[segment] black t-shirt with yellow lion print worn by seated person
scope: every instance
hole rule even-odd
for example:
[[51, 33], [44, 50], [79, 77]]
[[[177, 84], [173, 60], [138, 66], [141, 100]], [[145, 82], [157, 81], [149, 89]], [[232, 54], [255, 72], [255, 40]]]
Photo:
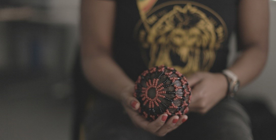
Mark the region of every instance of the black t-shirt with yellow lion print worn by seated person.
[[159, 65], [184, 75], [226, 68], [238, 0], [117, 0], [113, 57], [136, 80]]

